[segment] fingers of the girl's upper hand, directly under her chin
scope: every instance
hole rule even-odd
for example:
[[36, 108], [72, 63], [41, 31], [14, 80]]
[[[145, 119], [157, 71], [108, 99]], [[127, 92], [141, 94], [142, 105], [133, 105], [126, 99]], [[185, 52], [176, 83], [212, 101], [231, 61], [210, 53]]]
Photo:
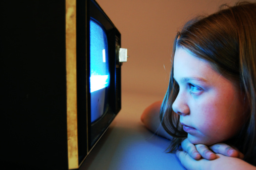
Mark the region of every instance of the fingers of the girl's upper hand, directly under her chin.
[[225, 143], [217, 143], [208, 147], [202, 144], [194, 145], [190, 143], [188, 139], [185, 139], [182, 141], [181, 147], [195, 160], [198, 160], [201, 157], [204, 159], [213, 160], [217, 158], [216, 153], [230, 157], [237, 157], [240, 159], [243, 158], [243, 154], [239, 150], [232, 148]]

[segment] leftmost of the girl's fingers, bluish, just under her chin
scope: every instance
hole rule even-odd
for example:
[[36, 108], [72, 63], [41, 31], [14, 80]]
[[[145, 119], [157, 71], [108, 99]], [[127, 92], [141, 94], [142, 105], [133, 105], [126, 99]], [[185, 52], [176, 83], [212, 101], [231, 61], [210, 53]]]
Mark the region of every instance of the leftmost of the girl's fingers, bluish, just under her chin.
[[181, 142], [182, 149], [187, 152], [193, 159], [198, 160], [201, 158], [201, 155], [196, 150], [194, 144], [190, 143], [188, 139], [185, 139]]

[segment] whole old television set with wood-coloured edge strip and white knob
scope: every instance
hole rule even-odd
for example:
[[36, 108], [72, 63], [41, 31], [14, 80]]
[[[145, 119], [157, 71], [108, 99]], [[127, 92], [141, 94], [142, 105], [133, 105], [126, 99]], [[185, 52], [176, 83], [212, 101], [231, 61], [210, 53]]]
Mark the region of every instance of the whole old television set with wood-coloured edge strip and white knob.
[[78, 169], [121, 109], [121, 34], [93, 0], [0, 5], [1, 167]]

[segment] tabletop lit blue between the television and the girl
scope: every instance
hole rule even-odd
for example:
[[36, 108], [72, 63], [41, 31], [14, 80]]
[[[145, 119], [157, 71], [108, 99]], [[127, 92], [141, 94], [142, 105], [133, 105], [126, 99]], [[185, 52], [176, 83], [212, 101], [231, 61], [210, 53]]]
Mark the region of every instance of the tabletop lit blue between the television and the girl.
[[80, 169], [175, 169], [184, 170], [173, 153], [166, 153], [170, 141], [154, 135], [140, 122], [146, 106], [163, 96], [122, 93], [122, 109]]

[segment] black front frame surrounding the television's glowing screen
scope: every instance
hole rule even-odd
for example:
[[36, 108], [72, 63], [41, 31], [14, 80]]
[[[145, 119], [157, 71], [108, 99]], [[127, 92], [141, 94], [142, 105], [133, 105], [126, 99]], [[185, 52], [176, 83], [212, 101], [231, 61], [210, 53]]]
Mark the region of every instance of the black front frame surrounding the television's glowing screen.
[[[85, 11], [85, 13], [83, 13]], [[91, 123], [90, 94], [90, 30], [89, 21], [93, 18], [100, 23], [107, 33], [110, 84], [108, 109], [98, 120]], [[83, 22], [85, 21], [85, 22]], [[121, 109], [121, 79], [117, 80], [117, 69], [121, 72], [118, 51], [121, 46], [121, 34], [99, 7], [92, 0], [77, 2], [77, 115], [78, 115], [78, 154], [79, 164], [104, 135], [111, 122]], [[121, 75], [120, 75], [121, 76]], [[117, 86], [120, 86], [117, 88]], [[117, 92], [117, 90], [119, 90]], [[86, 120], [86, 121], [85, 121]], [[84, 135], [86, 134], [86, 138]], [[85, 148], [85, 146], [87, 146]]]

